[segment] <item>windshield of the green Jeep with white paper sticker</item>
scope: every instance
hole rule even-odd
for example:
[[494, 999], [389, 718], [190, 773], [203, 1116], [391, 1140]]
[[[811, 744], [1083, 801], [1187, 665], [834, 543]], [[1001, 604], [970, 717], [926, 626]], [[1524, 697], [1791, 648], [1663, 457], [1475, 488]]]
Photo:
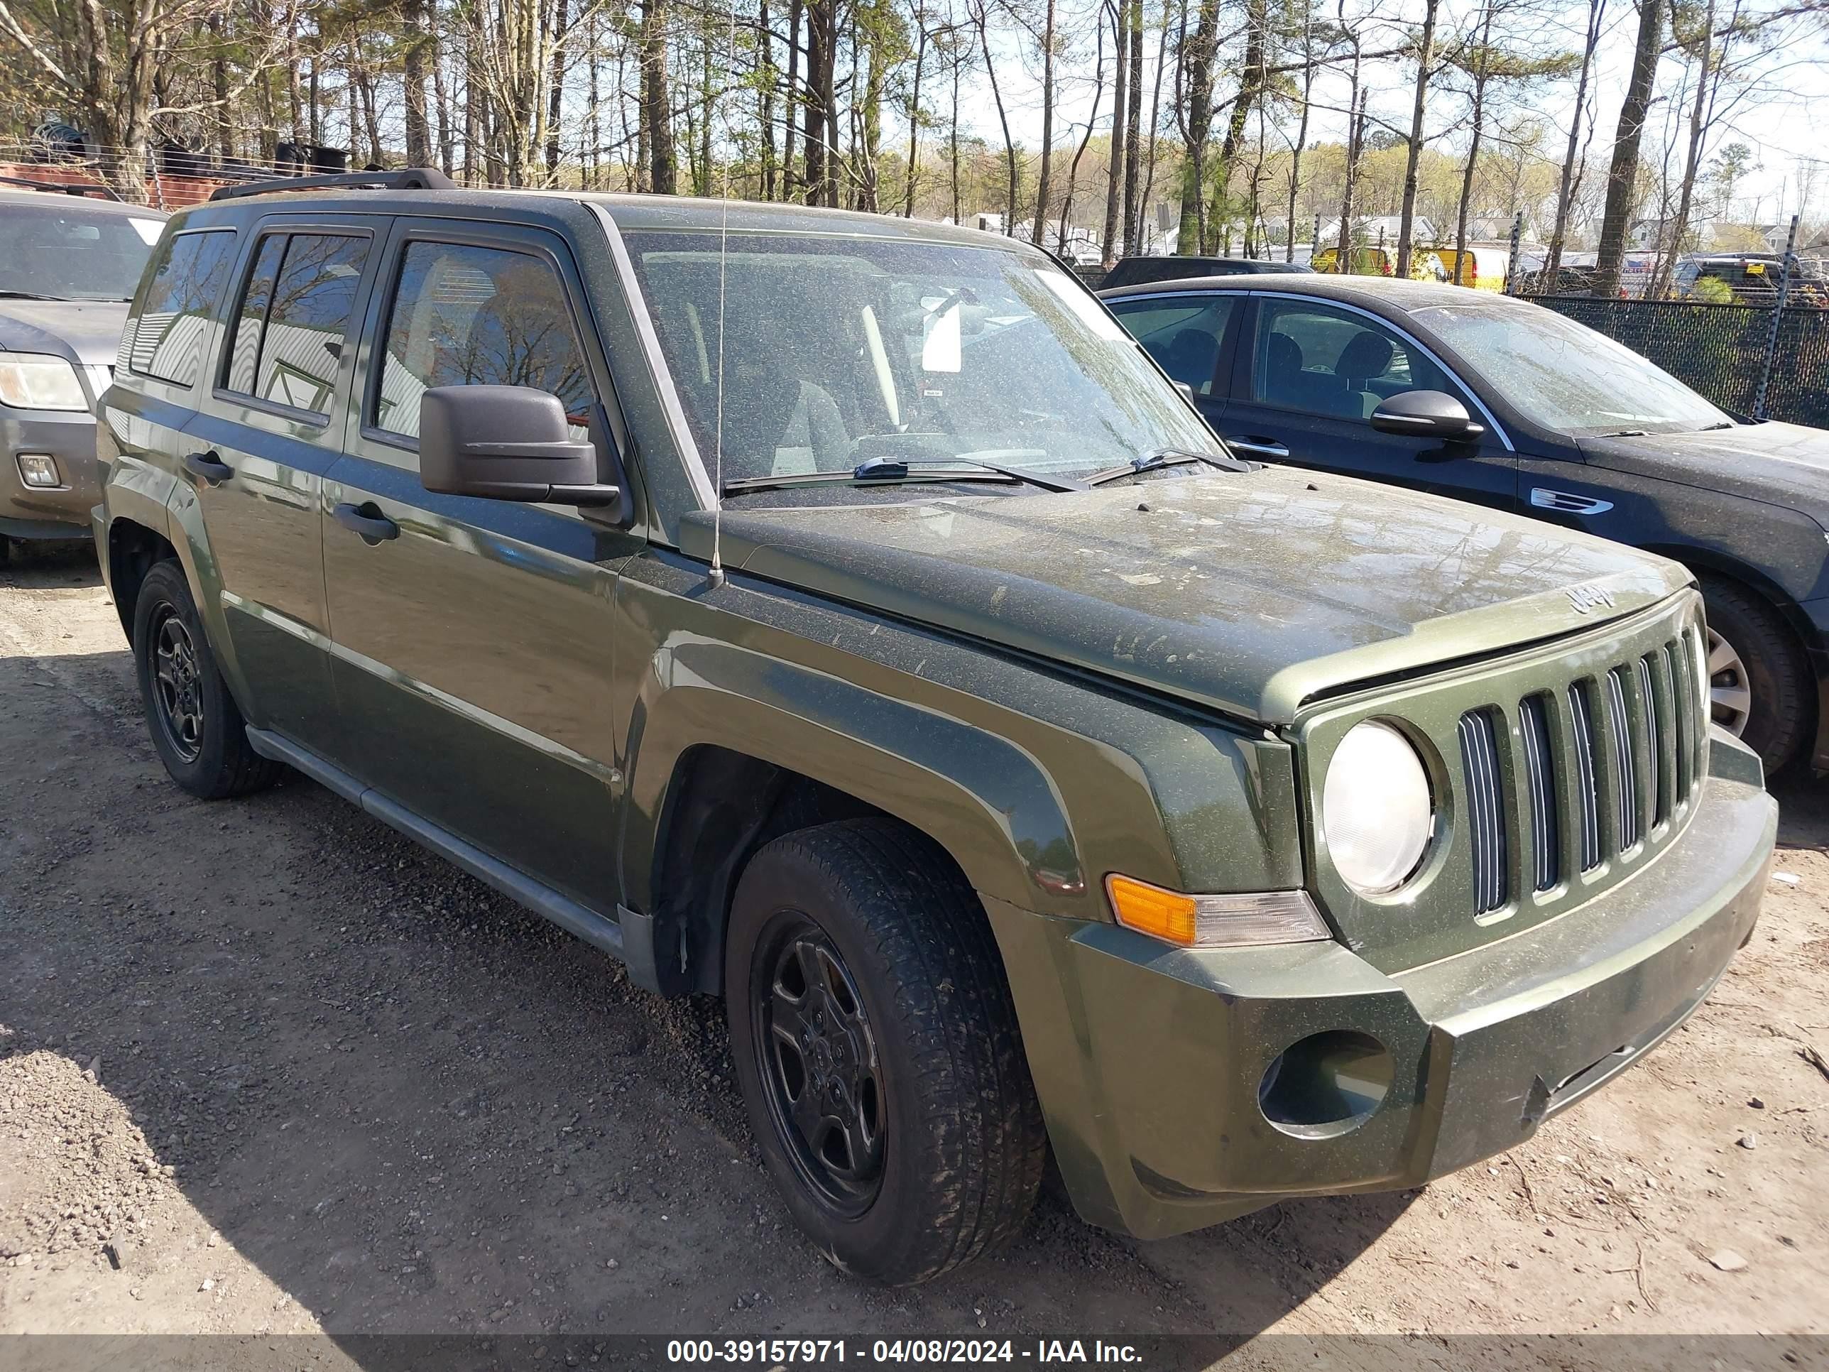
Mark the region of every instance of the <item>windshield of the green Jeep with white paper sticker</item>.
[[732, 234], [721, 337], [719, 236], [626, 241], [693, 437], [726, 485], [872, 457], [1086, 476], [1163, 448], [1218, 452], [1130, 335], [1044, 260]]

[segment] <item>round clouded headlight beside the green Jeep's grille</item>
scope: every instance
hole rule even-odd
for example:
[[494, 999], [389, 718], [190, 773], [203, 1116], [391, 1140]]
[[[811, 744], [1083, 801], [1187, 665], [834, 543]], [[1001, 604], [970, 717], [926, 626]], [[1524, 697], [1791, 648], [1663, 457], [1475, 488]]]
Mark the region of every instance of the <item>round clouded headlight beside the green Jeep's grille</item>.
[[1416, 871], [1436, 827], [1428, 772], [1390, 724], [1353, 724], [1321, 788], [1321, 840], [1333, 869], [1364, 895], [1390, 891]]

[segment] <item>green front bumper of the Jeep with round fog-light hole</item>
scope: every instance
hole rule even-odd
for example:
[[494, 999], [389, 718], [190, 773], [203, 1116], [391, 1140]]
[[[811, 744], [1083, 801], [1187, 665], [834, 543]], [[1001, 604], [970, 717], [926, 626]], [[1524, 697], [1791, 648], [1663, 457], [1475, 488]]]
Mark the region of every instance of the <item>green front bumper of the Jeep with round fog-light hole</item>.
[[[1187, 951], [986, 900], [1081, 1217], [1163, 1238], [1288, 1196], [1421, 1185], [1631, 1065], [1759, 913], [1778, 805], [1743, 750], [1717, 735], [1710, 752], [1688, 834], [1630, 882], [1405, 973], [1332, 942]], [[1383, 1103], [1346, 1131], [1273, 1125], [1266, 1070], [1330, 1032], [1388, 1050]]]

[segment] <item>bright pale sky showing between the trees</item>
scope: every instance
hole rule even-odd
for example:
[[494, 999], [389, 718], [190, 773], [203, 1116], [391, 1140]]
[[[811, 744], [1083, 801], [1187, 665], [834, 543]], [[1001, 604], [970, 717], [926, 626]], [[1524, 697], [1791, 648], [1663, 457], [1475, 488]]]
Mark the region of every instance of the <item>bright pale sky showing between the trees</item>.
[[[1767, 0], [1767, 4], [1772, 2], [1774, 0]], [[1372, 0], [1348, 0], [1350, 15], [1364, 13], [1370, 7]], [[1377, 7], [1381, 15], [1388, 15], [1397, 20], [1419, 16], [1419, 4], [1416, 4], [1416, 0], [1397, 4], [1383, 0]], [[1066, 5], [1063, 5], [1063, 11]], [[1154, 9], [1156, 5], [1147, 0], [1147, 13], [1152, 15]], [[1083, 13], [1083, 7], [1075, 5], [1074, 13]], [[1469, 4], [1469, 0], [1445, 0], [1443, 15], [1447, 18], [1443, 18], [1441, 24], [1465, 24], [1471, 13], [1472, 4]], [[1083, 20], [1079, 18], [1074, 22], [1083, 26]], [[1586, 0], [1575, 5], [1556, 5], [1549, 9], [1544, 22], [1536, 26], [1536, 37], [1533, 42], [1544, 49], [1560, 48], [1567, 51], [1580, 51], [1586, 22]], [[1599, 93], [1599, 108], [1591, 155], [1606, 157], [1608, 146], [1611, 145], [1613, 126], [1619, 119], [1619, 106], [1624, 97], [1626, 79], [1631, 68], [1635, 37], [1637, 7], [1630, 0], [1610, 0], [1604, 20], [1604, 37], [1597, 53], [1595, 91]], [[1368, 40], [1368, 46], [1394, 46], [1394, 42], [1390, 42], [1390, 31], [1386, 31], [1385, 40]], [[1149, 119], [1154, 57], [1156, 33], [1149, 31], [1145, 35], [1145, 119]], [[1033, 150], [1041, 143], [1041, 73], [1033, 44], [1028, 44], [1026, 38], [1019, 37], [1013, 26], [1008, 26], [1002, 40], [993, 44], [993, 60], [997, 62], [999, 82], [1010, 112], [1011, 134]], [[1679, 68], [1681, 64], [1674, 59], [1666, 59], [1661, 66], [1659, 90], [1666, 97], [1674, 93]], [[1055, 115], [1057, 145], [1074, 143], [1085, 132], [1086, 113], [1092, 104], [1090, 35], [1075, 44], [1074, 51], [1061, 64], [1061, 70], [1072, 75], [1063, 79], [1061, 84], [1059, 112]], [[1368, 71], [1370, 79], [1375, 82], [1370, 93], [1370, 113], [1374, 119], [1383, 119], [1392, 126], [1407, 128], [1412, 101], [1410, 73], [1390, 62], [1368, 68]], [[1781, 53], [1776, 53], [1769, 60], [1761, 62], [1758, 71], [1759, 80], [1747, 88], [1736, 108], [1723, 117], [1710, 134], [1705, 161], [1728, 143], [1738, 141], [1752, 148], [1754, 170], [1745, 176], [1736, 192], [1736, 218], [1759, 220], [1765, 223], [1780, 221], [1783, 216], [1800, 209], [1800, 172], [1807, 177], [1809, 165], [1814, 163], [1816, 187], [1805, 214], [1814, 220], [1829, 218], [1829, 143], [1825, 143], [1822, 135], [1824, 128], [1829, 126], [1825, 124], [1825, 121], [1829, 121], [1829, 26], [1818, 20], [1814, 29], [1798, 27], [1794, 31], [1794, 40], [1789, 42]], [[1110, 57], [1107, 55], [1107, 79], [1108, 77]], [[969, 91], [968, 99], [962, 99], [962, 106], [979, 112], [979, 117], [971, 121], [973, 132], [997, 146], [1000, 145], [1000, 130], [991, 104], [989, 82], [984, 79], [982, 71], [973, 75], [973, 86], [975, 90]], [[1172, 88], [1172, 57], [1163, 91], [1165, 110], [1169, 88]], [[1233, 90], [1236, 90], [1235, 73], [1222, 71], [1216, 101], [1227, 101]], [[1310, 123], [1311, 141], [1341, 141], [1344, 137], [1346, 101], [1348, 79], [1344, 71], [1328, 71], [1315, 82], [1315, 108]], [[1686, 101], [1681, 101], [1683, 108], [1675, 108], [1677, 104], [1679, 101], [1664, 99], [1653, 106], [1652, 124], [1646, 128], [1648, 157], [1657, 155], [1655, 148], [1663, 143], [1666, 119], [1672, 126], [1681, 124], [1686, 119]], [[1110, 106], [1112, 91], [1110, 84], [1107, 84], [1105, 99], [1099, 106], [1101, 132], [1108, 128]], [[1531, 106], [1553, 126], [1555, 132], [1549, 143], [1560, 150], [1562, 143], [1567, 139], [1569, 121], [1575, 115], [1575, 82], [1553, 82], [1540, 88], [1531, 97]], [[1445, 126], [1454, 124], [1463, 112], [1465, 99], [1458, 95], [1441, 97], [1427, 121], [1428, 134], [1434, 135]], [[1507, 115], [1513, 112], [1507, 112]], [[1061, 128], [1063, 121], [1066, 123], [1064, 130]], [[1460, 132], [1450, 132], [1447, 137], [1432, 141], [1432, 146], [1461, 150], [1465, 148], [1465, 137]]]

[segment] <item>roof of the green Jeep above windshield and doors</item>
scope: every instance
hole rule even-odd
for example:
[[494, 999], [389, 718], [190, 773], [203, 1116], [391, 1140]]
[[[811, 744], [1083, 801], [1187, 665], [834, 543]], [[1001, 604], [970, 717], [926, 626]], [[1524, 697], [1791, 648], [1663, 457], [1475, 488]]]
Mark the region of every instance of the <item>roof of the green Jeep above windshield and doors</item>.
[[[437, 214], [476, 216], [512, 223], [529, 199], [600, 205], [618, 229], [690, 229], [730, 232], [785, 232], [836, 234], [869, 238], [909, 238], [931, 243], [960, 243], [973, 247], [1015, 247], [1033, 251], [1017, 238], [960, 229], [951, 223], [904, 220], [893, 214], [865, 214], [861, 210], [827, 210], [807, 205], [775, 205], [748, 199], [702, 199], [695, 196], [616, 196], [598, 190], [364, 190], [326, 187], [322, 190], [283, 190], [271, 194], [236, 196], [210, 201], [209, 209], [258, 207], [271, 209], [333, 209], [337, 212], [368, 214]], [[203, 210], [205, 207], [199, 207]], [[198, 210], [192, 210], [196, 214]]]

